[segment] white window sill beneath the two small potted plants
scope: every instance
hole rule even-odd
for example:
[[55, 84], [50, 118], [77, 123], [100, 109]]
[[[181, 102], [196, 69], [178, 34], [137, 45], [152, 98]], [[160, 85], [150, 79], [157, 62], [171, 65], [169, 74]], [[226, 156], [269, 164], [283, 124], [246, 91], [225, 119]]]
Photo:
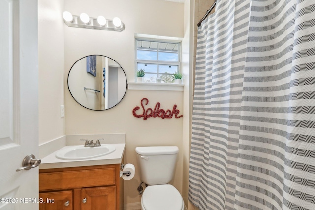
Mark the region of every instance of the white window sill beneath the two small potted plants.
[[173, 84], [173, 83], [128, 82], [128, 90], [184, 91], [184, 85], [183, 84]]

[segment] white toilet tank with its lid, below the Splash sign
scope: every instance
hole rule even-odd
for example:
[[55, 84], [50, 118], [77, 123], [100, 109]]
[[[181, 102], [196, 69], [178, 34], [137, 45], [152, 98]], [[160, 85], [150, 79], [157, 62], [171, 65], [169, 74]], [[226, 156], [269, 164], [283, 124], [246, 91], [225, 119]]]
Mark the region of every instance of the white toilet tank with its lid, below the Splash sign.
[[148, 185], [167, 184], [172, 180], [178, 147], [137, 147], [141, 181]]

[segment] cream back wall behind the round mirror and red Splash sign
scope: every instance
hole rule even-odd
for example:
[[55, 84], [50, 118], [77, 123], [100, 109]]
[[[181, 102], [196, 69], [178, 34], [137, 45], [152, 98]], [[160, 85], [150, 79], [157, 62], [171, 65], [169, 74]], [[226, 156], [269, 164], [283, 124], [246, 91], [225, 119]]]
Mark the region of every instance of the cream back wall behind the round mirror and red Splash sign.
[[[91, 17], [103, 15], [119, 17], [126, 25], [122, 32], [89, 30], [67, 27], [65, 37], [65, 77], [72, 64], [80, 58], [99, 54], [116, 60], [124, 69], [128, 82], [134, 82], [135, 34], [184, 37], [184, 4], [161, 0], [66, 0], [65, 10], [74, 15], [86, 12]], [[66, 80], [65, 80], [66, 87]], [[141, 180], [135, 155], [137, 146], [177, 145], [180, 148], [178, 164], [172, 184], [182, 192], [183, 185], [183, 118], [143, 120], [132, 115], [142, 98], [148, 98], [147, 107], [157, 102], [162, 109], [177, 104], [183, 113], [183, 92], [127, 90], [123, 100], [106, 111], [92, 111], [78, 105], [65, 90], [66, 134], [126, 133], [124, 163], [136, 167], [132, 180], [124, 182], [124, 203], [140, 202], [137, 187]], [[106, 143], [106, 140], [105, 140]], [[96, 178], [97, 179], [97, 178]]]

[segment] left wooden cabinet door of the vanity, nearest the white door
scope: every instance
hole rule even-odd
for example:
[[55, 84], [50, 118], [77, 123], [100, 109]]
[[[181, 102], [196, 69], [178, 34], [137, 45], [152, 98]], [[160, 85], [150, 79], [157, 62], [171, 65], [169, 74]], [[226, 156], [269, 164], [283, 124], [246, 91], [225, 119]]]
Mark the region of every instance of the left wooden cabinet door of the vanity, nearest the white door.
[[72, 191], [39, 193], [39, 210], [72, 210]]

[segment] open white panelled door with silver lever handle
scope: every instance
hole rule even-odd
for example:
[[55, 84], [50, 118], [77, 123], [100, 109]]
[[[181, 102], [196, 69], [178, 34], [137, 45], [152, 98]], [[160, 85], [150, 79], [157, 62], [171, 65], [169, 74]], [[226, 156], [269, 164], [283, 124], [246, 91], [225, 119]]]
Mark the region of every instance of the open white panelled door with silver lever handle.
[[38, 210], [37, 0], [0, 0], [0, 210]]

